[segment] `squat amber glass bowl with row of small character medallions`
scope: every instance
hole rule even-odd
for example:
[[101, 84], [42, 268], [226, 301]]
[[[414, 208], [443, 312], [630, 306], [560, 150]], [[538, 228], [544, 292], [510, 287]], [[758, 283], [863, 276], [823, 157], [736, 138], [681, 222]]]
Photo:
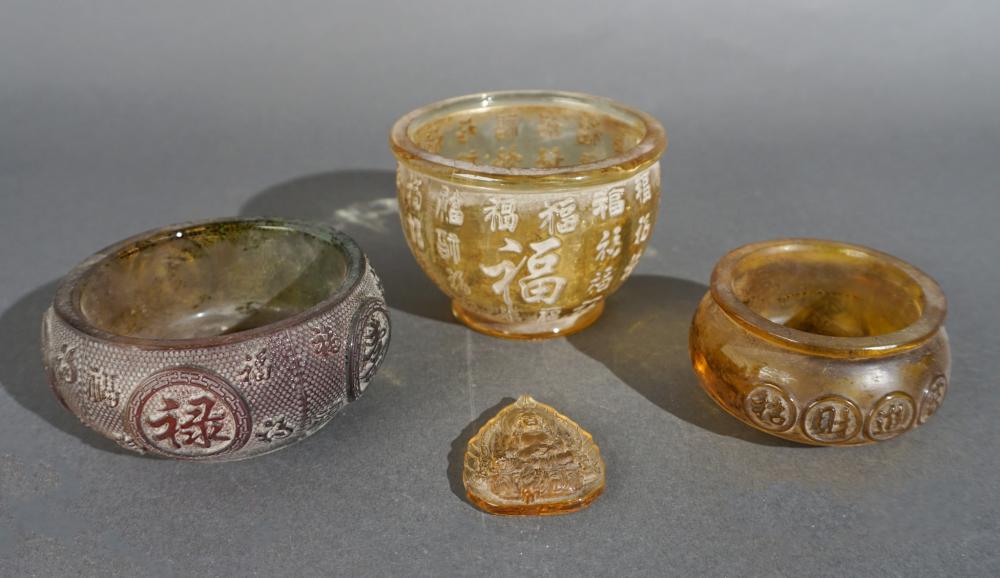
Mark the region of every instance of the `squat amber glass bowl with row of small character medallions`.
[[746, 245], [716, 265], [691, 326], [702, 386], [747, 425], [814, 445], [884, 441], [922, 425], [948, 390], [940, 287], [846, 243]]

